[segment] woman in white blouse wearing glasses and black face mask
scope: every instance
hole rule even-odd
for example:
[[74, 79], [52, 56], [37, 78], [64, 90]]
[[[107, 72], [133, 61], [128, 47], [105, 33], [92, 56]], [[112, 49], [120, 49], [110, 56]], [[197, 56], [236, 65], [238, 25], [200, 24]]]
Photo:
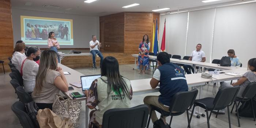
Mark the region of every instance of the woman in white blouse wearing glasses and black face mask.
[[40, 50], [38, 47], [30, 47], [26, 51], [27, 59], [22, 65], [22, 78], [24, 90], [32, 93], [35, 87], [35, 77], [37, 76], [39, 65], [35, 62], [40, 59]]

